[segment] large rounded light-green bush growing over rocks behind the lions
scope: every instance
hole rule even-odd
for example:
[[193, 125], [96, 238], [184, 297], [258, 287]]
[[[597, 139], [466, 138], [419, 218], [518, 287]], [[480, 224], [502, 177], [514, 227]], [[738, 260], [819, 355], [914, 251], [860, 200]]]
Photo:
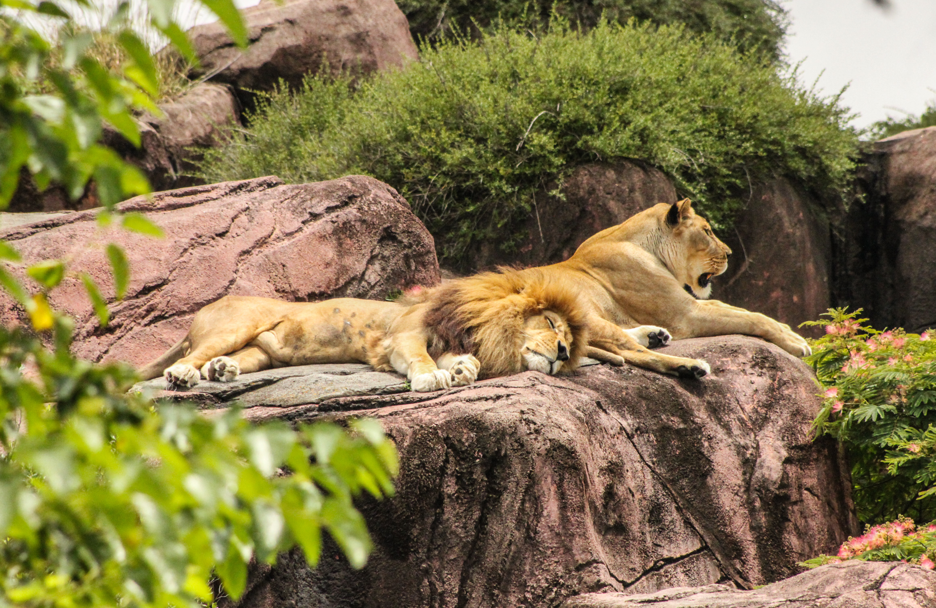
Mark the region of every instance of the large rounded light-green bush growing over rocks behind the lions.
[[364, 173], [396, 187], [448, 264], [482, 242], [510, 250], [534, 193], [593, 161], [641, 158], [716, 226], [758, 180], [785, 174], [837, 200], [856, 134], [836, 98], [714, 37], [602, 23], [500, 29], [424, 47], [419, 63], [357, 85], [311, 78], [264, 97], [210, 152], [210, 182], [301, 183]]

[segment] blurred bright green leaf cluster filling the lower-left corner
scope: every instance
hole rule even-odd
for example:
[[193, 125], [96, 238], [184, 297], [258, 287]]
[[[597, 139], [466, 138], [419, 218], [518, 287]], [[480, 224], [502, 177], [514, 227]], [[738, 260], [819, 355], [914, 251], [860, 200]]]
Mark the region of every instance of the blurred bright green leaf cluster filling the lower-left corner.
[[[371, 549], [352, 498], [392, 493], [396, 451], [378, 423], [251, 425], [127, 394], [135, 373], [0, 328], [0, 605], [191, 606], [212, 573], [237, 598], [251, 558], [321, 528], [355, 567]], [[35, 371], [26, 378], [21, 366]], [[5, 603], [6, 602], [6, 603]]]

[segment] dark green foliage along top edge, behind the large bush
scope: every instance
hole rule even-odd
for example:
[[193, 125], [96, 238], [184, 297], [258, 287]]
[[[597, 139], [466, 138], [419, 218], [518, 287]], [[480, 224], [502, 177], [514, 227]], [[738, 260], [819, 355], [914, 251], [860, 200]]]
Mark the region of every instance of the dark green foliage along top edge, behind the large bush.
[[413, 37], [435, 41], [451, 33], [476, 31], [498, 19], [536, 25], [552, 11], [590, 29], [602, 15], [611, 22], [630, 19], [657, 25], [684, 23], [698, 34], [712, 32], [743, 51], [777, 58], [786, 30], [786, 13], [772, 0], [400, 0]]

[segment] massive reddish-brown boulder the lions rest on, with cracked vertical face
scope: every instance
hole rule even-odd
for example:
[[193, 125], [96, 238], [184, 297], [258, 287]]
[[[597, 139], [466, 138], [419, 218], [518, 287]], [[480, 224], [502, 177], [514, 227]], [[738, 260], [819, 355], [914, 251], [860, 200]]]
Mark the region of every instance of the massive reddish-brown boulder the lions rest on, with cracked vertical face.
[[[856, 533], [834, 441], [810, 435], [809, 368], [743, 336], [682, 340], [713, 373], [592, 365], [440, 393], [257, 405], [253, 420], [367, 415], [401, 454], [397, 496], [361, 503], [375, 551], [326, 543], [255, 568], [243, 608], [557, 606], [598, 591], [782, 579]], [[226, 602], [229, 604], [229, 602]]]

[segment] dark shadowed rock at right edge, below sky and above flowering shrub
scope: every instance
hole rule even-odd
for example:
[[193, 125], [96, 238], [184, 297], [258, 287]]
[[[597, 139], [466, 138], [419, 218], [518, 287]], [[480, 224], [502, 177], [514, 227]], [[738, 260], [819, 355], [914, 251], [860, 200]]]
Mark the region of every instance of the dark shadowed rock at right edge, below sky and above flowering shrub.
[[936, 126], [874, 143], [837, 240], [835, 298], [874, 327], [936, 327]]

